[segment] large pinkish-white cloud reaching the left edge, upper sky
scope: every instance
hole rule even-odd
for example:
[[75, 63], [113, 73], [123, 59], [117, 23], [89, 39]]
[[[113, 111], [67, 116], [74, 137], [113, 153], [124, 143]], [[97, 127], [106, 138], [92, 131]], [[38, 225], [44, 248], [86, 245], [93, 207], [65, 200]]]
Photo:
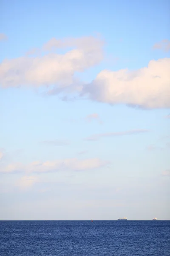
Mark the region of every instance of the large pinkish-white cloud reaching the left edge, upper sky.
[[[103, 41], [100, 38], [66, 38], [48, 41], [41, 56], [26, 56], [5, 59], [0, 65], [0, 80], [2, 87], [18, 86], [51, 86], [66, 88], [75, 81], [75, 73], [99, 64], [103, 59]], [[57, 48], [69, 48], [64, 54], [52, 51]], [[36, 49], [37, 50], [37, 49]], [[34, 53], [34, 49], [31, 54]], [[81, 86], [80, 86], [81, 87]], [[72, 90], [80, 90], [79, 85]], [[70, 89], [70, 90], [71, 90]]]

